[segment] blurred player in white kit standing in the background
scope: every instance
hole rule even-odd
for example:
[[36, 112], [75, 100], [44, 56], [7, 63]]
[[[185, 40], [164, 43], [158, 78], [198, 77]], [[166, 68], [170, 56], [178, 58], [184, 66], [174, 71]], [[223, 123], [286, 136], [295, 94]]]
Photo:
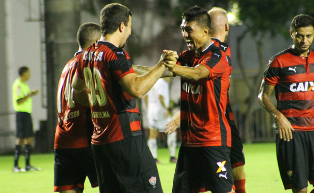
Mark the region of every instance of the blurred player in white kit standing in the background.
[[[147, 93], [147, 118], [149, 123], [148, 147], [151, 151], [156, 164], [161, 162], [157, 159], [157, 137], [159, 132], [164, 132], [166, 124], [171, 120], [169, 110], [170, 78], [159, 79], [152, 89]], [[169, 148], [170, 163], [176, 163], [176, 136], [177, 132], [167, 135], [167, 145]]]

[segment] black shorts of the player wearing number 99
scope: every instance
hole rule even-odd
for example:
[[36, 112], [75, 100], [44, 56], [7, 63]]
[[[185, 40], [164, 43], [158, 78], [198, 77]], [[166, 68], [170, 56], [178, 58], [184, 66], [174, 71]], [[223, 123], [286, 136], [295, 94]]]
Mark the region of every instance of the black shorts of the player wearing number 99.
[[143, 135], [93, 145], [100, 193], [162, 193], [157, 166]]

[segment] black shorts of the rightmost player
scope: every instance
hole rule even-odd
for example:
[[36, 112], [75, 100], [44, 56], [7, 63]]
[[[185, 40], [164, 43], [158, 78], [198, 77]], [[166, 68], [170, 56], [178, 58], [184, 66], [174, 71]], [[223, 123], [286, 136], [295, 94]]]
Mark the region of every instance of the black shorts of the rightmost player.
[[285, 189], [307, 187], [307, 181], [314, 181], [314, 131], [292, 134], [289, 142], [276, 136], [277, 161]]

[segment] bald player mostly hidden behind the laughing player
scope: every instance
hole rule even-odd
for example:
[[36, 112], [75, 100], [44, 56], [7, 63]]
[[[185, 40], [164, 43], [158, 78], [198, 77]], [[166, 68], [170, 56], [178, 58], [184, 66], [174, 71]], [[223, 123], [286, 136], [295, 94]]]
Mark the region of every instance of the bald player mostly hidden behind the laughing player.
[[[225, 43], [227, 41], [229, 25], [227, 12], [222, 8], [212, 8], [209, 12], [211, 17], [211, 37], [215, 45], [226, 55], [230, 74], [232, 70], [230, 48]], [[244, 153], [243, 144], [240, 138], [240, 133], [234, 123], [234, 115], [231, 109], [229, 92], [227, 97], [227, 106], [225, 112], [226, 118], [231, 128], [231, 149], [230, 162], [232, 167], [232, 175], [234, 180], [235, 192], [245, 193], [245, 172], [244, 172]]]

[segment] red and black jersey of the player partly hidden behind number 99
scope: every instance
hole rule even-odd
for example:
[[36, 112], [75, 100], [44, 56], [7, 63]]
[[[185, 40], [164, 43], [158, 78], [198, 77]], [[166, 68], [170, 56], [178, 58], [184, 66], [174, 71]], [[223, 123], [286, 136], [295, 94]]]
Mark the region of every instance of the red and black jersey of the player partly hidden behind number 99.
[[81, 148], [91, 144], [94, 128], [90, 115], [87, 115], [90, 114], [90, 109], [72, 100], [71, 82], [82, 53], [75, 53], [60, 76], [57, 94], [58, 125], [54, 148]]

